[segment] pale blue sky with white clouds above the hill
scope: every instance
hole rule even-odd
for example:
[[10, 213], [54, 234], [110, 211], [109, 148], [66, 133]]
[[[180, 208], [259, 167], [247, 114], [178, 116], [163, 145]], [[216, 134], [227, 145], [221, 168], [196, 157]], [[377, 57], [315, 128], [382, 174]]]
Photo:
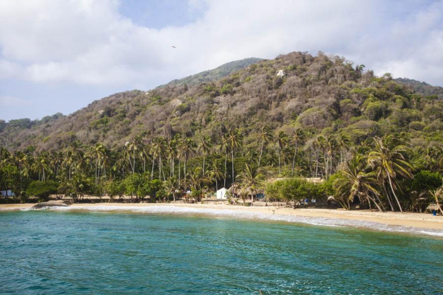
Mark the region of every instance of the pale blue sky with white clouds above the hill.
[[443, 0], [0, 0], [0, 119], [293, 51], [443, 86]]

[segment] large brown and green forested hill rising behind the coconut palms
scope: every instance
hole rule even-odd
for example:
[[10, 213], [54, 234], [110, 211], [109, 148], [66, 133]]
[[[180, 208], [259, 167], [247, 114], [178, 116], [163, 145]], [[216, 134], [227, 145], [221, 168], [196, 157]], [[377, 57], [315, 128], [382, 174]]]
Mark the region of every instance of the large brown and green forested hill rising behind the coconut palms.
[[339, 57], [294, 52], [217, 81], [189, 81], [116, 93], [66, 117], [2, 122], [0, 145], [52, 150], [78, 141], [122, 148], [138, 135], [170, 138], [177, 133], [208, 135], [217, 145], [229, 127], [240, 127], [248, 149], [256, 148], [265, 125], [276, 132], [301, 128], [309, 135], [307, 144], [318, 134], [346, 134], [359, 143], [392, 132], [404, 132], [422, 147], [443, 142], [440, 99]]

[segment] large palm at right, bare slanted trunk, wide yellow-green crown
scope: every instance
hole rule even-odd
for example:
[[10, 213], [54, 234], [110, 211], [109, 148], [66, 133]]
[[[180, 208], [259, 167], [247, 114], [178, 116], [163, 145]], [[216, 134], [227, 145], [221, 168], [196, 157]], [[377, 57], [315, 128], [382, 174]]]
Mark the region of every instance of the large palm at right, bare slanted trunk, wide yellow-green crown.
[[376, 143], [375, 150], [369, 153], [368, 163], [377, 169], [381, 181], [384, 181], [384, 176], [387, 176], [391, 192], [400, 211], [403, 212], [400, 201], [395, 194], [396, 185], [394, 181], [398, 176], [412, 177], [412, 166], [406, 160], [409, 149], [392, 134], [385, 135], [382, 138], [374, 137], [374, 141]]

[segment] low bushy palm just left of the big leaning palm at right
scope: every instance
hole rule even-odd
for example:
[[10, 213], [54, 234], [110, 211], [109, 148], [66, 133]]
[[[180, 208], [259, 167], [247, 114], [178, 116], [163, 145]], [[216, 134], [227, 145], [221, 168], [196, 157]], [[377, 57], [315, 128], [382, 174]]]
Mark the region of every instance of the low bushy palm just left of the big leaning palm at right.
[[[346, 162], [344, 169], [335, 181], [337, 192], [341, 197], [339, 202], [349, 210], [349, 201], [352, 202], [354, 197], [357, 196], [360, 199], [360, 203], [368, 199], [369, 204], [370, 201], [372, 201], [377, 208], [382, 211], [381, 207], [383, 207], [383, 204], [381, 204], [378, 197], [378, 190], [374, 187], [374, 184], [377, 183], [376, 174], [374, 172], [366, 172], [366, 168], [366, 158], [361, 154], [356, 154]], [[377, 197], [381, 207], [374, 198], [371, 197], [371, 193]]]

